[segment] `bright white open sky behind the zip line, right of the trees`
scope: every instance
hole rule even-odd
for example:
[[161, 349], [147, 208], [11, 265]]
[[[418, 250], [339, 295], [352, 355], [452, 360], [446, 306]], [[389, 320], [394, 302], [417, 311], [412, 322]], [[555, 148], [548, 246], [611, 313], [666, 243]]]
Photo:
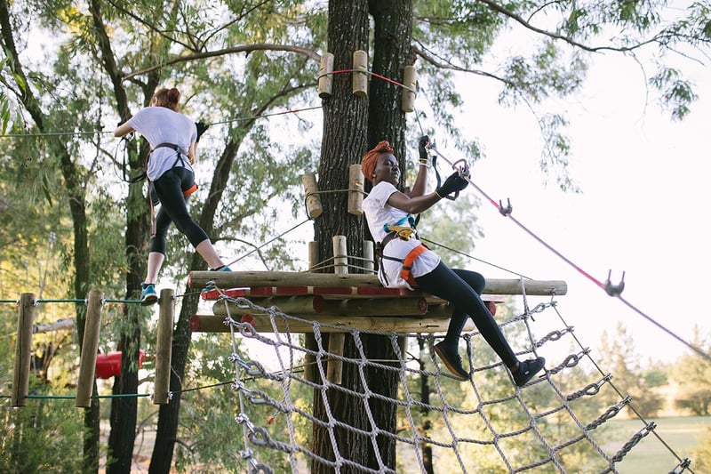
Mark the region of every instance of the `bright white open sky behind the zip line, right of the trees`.
[[[679, 123], [645, 97], [644, 78], [632, 60], [614, 54], [595, 59], [583, 91], [563, 104], [571, 121], [570, 173], [580, 195], [559, 191], [555, 180], [543, 185], [535, 119], [527, 109], [496, 104], [496, 92], [485, 89], [494, 84], [467, 79], [471, 86], [462, 92], [470, 111], [459, 119], [485, 149], [472, 178], [484, 192], [504, 203], [510, 197], [517, 221], [597, 280], [604, 282], [612, 270], [612, 283], [619, 283], [625, 271], [625, 300], [686, 341], [693, 325], [708, 333], [703, 296], [711, 266], [705, 222], [711, 89], [707, 71], [692, 72], [700, 98]], [[486, 237], [477, 242], [475, 256], [527, 277], [565, 280], [568, 294], [559, 299], [559, 310], [587, 346], [597, 348], [602, 330], [614, 333], [622, 322], [645, 359], [688, 351], [494, 206], [484, 202], [478, 215]], [[481, 270], [487, 277], [511, 277]]]

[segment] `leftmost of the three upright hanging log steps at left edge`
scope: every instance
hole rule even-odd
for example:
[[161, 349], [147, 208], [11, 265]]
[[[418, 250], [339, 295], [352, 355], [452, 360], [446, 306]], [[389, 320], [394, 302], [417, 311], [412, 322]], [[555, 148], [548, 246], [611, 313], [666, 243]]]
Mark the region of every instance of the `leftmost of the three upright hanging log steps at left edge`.
[[35, 318], [35, 294], [22, 293], [17, 312], [15, 368], [12, 374], [11, 406], [27, 406], [29, 363], [32, 356], [32, 321]]

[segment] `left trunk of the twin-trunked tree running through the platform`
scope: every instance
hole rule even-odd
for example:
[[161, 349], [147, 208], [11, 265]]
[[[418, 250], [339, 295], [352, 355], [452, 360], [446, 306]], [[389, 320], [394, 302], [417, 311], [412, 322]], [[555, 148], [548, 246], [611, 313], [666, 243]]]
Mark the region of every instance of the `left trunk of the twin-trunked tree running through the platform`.
[[[353, 68], [353, 52], [367, 51], [368, 40], [367, 4], [362, 0], [332, 1], [329, 3], [329, 52], [334, 55], [334, 70]], [[370, 146], [371, 136], [367, 126], [368, 99], [352, 93], [351, 75], [338, 75], [333, 78], [332, 97], [324, 100], [324, 139], [322, 157], [319, 165], [319, 189], [348, 189], [348, 166], [360, 163], [361, 157]], [[371, 84], [372, 86], [373, 84]], [[371, 96], [373, 97], [373, 96]], [[371, 100], [372, 101], [372, 100]], [[388, 112], [388, 115], [390, 112]], [[372, 117], [372, 114], [370, 114]], [[316, 240], [319, 243], [320, 260], [332, 257], [332, 237], [344, 235], [348, 238], [348, 255], [362, 255], [364, 220], [362, 217], [348, 214], [348, 195], [346, 193], [326, 193], [322, 195], [324, 214], [316, 221]], [[363, 335], [363, 353], [369, 359], [392, 359], [394, 348], [391, 342], [382, 336]], [[328, 341], [323, 341], [327, 347]], [[346, 337], [344, 356], [360, 358], [356, 341]], [[341, 385], [358, 393], [363, 393], [363, 382], [373, 392], [385, 397], [395, 398], [397, 377], [394, 373], [385, 373], [370, 367], [365, 369], [365, 380], [360, 377], [358, 367], [344, 364]], [[320, 390], [314, 393], [314, 415], [320, 420], [327, 420], [325, 404], [332, 416], [354, 428], [371, 431], [368, 411], [381, 430], [395, 432], [395, 406], [373, 398], [364, 405], [362, 398], [352, 397], [340, 390], [327, 390], [326, 400]], [[328, 430], [315, 424], [313, 429], [314, 452], [324, 459], [336, 460], [336, 452], [341, 458], [357, 464], [379, 470], [383, 467], [395, 469], [395, 442], [391, 438], [378, 437], [376, 446], [371, 439], [357, 434], [354, 430], [335, 429], [335, 445]], [[377, 450], [377, 454], [376, 454]], [[378, 462], [378, 456], [382, 465]], [[314, 462], [314, 473], [332, 472], [332, 468]], [[341, 472], [357, 471], [344, 466]]]

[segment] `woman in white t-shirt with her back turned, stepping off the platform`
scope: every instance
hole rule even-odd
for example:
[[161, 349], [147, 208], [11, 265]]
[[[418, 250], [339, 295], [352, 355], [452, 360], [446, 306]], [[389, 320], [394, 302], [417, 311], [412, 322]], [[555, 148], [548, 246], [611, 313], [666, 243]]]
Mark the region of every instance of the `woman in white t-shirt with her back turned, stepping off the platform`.
[[159, 89], [150, 107], [142, 108], [114, 131], [114, 136], [123, 137], [135, 130], [150, 143], [146, 173], [161, 204], [150, 240], [148, 275], [140, 285], [144, 305], [158, 300], [156, 281], [165, 259], [165, 237], [171, 222], [211, 269], [229, 271], [210, 238], [188, 213], [188, 197], [197, 189], [192, 165], [197, 158], [198, 135], [195, 122], [180, 114], [179, 104], [178, 89]]

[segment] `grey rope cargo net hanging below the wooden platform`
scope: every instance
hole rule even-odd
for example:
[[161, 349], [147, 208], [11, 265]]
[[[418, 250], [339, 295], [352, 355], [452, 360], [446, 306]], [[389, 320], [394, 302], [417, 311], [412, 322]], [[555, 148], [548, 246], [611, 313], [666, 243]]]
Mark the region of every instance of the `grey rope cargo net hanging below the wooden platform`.
[[[547, 358], [545, 373], [518, 389], [475, 331], [459, 345], [471, 367], [470, 380], [459, 382], [435, 356], [441, 334], [322, 324], [220, 293], [215, 309], [224, 305], [236, 369], [239, 454], [250, 472], [624, 472], [642, 445], [668, 454], [659, 471], [692, 472], [635, 407], [636, 395], [595, 363], [554, 299], [530, 309], [523, 295], [523, 314], [499, 322], [512, 346], [525, 348], [518, 356]], [[258, 333], [257, 318], [272, 332]], [[339, 333], [342, 354], [329, 351]], [[244, 351], [240, 339], [252, 340], [259, 356], [249, 358], [254, 350]], [[566, 341], [569, 349], [551, 356]], [[606, 423], [615, 417], [627, 422]]]

